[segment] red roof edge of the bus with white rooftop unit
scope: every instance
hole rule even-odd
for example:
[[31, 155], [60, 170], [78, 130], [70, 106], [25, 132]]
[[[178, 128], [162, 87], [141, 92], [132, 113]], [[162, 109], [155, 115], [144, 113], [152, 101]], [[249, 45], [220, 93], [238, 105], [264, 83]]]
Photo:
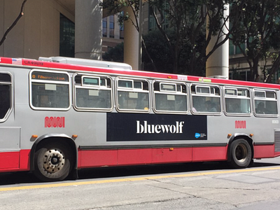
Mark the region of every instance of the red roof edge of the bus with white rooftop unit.
[[240, 85], [246, 87], [266, 87], [280, 89], [278, 84], [270, 83], [255, 83], [241, 80], [226, 80], [223, 78], [207, 78], [201, 76], [186, 76], [172, 73], [158, 73], [153, 71], [136, 71], [132, 70], [128, 64], [117, 62], [102, 62], [93, 61], [90, 59], [77, 59], [69, 57], [49, 57], [40, 59], [24, 59], [24, 58], [10, 58], [0, 57], [1, 64], [13, 64], [20, 66], [32, 66], [36, 68], [47, 69], [64, 69], [70, 71], [92, 71], [97, 73], [111, 73], [123, 76], [141, 76], [144, 78], [158, 78], [167, 80], [182, 80], [197, 83], [216, 83], [223, 85]]

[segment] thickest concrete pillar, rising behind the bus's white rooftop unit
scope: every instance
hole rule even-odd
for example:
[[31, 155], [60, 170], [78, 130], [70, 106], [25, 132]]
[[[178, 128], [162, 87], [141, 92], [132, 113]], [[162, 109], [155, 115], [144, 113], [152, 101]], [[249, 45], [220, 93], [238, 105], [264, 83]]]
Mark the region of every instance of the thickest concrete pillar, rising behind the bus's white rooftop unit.
[[97, 0], [75, 1], [75, 57], [102, 59], [102, 8]]

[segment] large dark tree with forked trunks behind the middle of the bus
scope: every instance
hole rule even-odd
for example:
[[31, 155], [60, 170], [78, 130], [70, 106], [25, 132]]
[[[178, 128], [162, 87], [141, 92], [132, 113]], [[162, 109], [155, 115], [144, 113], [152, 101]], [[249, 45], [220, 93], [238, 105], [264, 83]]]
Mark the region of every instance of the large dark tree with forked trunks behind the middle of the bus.
[[[170, 72], [197, 75], [205, 68], [209, 56], [228, 40], [231, 30], [239, 22], [240, 10], [243, 8], [246, 0], [146, 0], [143, 2], [149, 3], [149, 6], [151, 6], [158, 30], [162, 33], [165, 43], [169, 48], [168, 54], [173, 65]], [[234, 13], [230, 13], [228, 17], [223, 18], [226, 3], [232, 4], [231, 8], [233, 8]], [[139, 0], [107, 0], [104, 1], [102, 6], [115, 13], [122, 10], [124, 6], [129, 6], [134, 11], [135, 17], [139, 15]], [[229, 18], [232, 22], [232, 28], [225, 34], [222, 29]], [[130, 16], [127, 14], [120, 15], [119, 20], [120, 22], [130, 20]], [[168, 22], [169, 28], [174, 31], [172, 38], [165, 30], [166, 22]], [[137, 22], [134, 23], [134, 26], [139, 29]], [[201, 34], [204, 33], [202, 31], [205, 31], [206, 28], [209, 33], [204, 41], [201, 42]], [[220, 39], [220, 42], [216, 42], [206, 55], [207, 46], [214, 35], [223, 38]], [[143, 45], [144, 50], [146, 50], [145, 41]], [[179, 62], [180, 57], [183, 55], [181, 52], [184, 52], [183, 48], [186, 45], [190, 46], [190, 59], [186, 62], [185, 70], [180, 72]], [[148, 55], [150, 54], [148, 52]], [[150, 59], [153, 63], [151, 55]]]

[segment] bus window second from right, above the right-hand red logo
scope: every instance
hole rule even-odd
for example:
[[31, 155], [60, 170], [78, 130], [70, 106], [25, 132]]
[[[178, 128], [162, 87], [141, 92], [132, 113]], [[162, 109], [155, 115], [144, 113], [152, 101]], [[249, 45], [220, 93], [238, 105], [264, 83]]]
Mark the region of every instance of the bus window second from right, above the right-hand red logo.
[[251, 115], [250, 90], [240, 87], [225, 87], [225, 113]]

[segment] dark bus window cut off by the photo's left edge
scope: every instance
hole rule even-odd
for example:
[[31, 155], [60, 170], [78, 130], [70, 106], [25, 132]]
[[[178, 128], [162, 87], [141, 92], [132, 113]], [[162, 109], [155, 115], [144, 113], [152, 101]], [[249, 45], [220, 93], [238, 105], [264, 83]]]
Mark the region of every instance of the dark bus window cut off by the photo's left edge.
[[3, 121], [11, 108], [10, 85], [10, 75], [8, 73], [0, 73], [0, 122]]

